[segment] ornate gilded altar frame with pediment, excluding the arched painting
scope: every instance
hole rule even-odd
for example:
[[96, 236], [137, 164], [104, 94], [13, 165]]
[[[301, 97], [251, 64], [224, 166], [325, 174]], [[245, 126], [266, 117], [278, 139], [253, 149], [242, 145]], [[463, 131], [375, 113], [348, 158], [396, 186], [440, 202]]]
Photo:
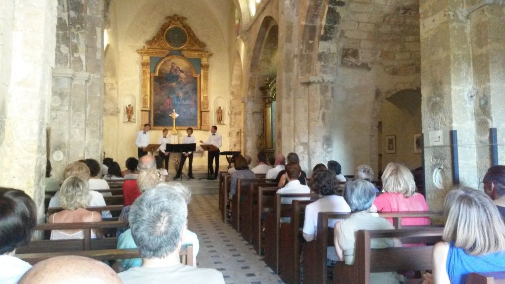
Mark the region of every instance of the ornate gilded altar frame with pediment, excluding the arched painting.
[[[165, 18], [165, 22], [157, 34], [150, 40], [146, 41], [146, 45], [137, 52], [141, 55], [140, 63], [142, 68], [142, 124], [153, 123], [153, 78], [155, 72], [151, 72], [151, 58], [162, 58], [157, 63], [162, 64], [168, 57], [174, 55], [183, 56], [185, 59], [197, 59], [200, 61], [200, 76], [198, 79], [198, 104], [197, 126], [195, 130], [209, 130], [209, 58], [211, 52], [206, 51], [206, 44], [201, 42], [191, 27], [184, 23], [186, 18], [178, 15], [173, 15]], [[168, 35], [171, 31], [176, 31], [174, 38]], [[176, 52], [176, 53], [174, 53]], [[155, 68], [155, 71], [158, 67]], [[153, 129], [163, 129], [164, 127], [154, 127]], [[185, 126], [176, 127], [177, 129], [185, 129]]]

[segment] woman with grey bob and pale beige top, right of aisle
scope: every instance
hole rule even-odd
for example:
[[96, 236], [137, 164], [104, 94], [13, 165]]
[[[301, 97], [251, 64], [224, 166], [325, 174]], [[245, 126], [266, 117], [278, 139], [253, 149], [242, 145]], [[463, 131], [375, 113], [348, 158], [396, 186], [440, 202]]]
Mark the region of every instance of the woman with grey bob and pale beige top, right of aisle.
[[[340, 261], [354, 264], [356, 233], [359, 230], [391, 230], [393, 225], [386, 219], [370, 212], [375, 198], [374, 185], [365, 180], [347, 182], [344, 199], [349, 204], [352, 215], [335, 223], [335, 251]], [[399, 241], [391, 238], [372, 239], [373, 249], [401, 246]], [[387, 260], [385, 260], [387, 261]], [[396, 272], [370, 273], [370, 283], [398, 283]]]

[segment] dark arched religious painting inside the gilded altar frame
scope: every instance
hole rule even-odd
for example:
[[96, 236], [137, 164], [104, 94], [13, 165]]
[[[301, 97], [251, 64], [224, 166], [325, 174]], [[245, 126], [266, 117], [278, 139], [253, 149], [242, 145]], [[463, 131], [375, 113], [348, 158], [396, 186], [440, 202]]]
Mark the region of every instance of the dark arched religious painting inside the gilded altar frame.
[[177, 128], [196, 128], [199, 121], [200, 70], [184, 56], [168, 55], [151, 74], [151, 121], [153, 127], [172, 126], [175, 111]]

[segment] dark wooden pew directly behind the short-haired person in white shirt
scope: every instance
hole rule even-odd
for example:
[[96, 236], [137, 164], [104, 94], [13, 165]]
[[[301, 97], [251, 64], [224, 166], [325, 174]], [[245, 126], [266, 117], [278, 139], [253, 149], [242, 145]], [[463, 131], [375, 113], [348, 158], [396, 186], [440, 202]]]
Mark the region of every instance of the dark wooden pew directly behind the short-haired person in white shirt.
[[[277, 274], [279, 274], [279, 247], [281, 240], [281, 228], [285, 228], [294, 217], [292, 204], [281, 204], [282, 198], [302, 197], [312, 201], [319, 199], [318, 194], [279, 194], [275, 195], [274, 210], [265, 214], [265, 263]], [[293, 200], [294, 201], [294, 200]], [[300, 200], [298, 200], [300, 201]], [[305, 200], [304, 200], [305, 201]], [[305, 213], [305, 211], [304, 211]], [[299, 215], [299, 212], [298, 212]], [[304, 214], [305, 215], [305, 214]], [[297, 216], [299, 218], [299, 216]], [[281, 218], [290, 218], [290, 222], [282, 222]], [[302, 224], [303, 226], [303, 224]], [[297, 227], [299, 229], [299, 227]], [[285, 257], [283, 255], [283, 257]]]

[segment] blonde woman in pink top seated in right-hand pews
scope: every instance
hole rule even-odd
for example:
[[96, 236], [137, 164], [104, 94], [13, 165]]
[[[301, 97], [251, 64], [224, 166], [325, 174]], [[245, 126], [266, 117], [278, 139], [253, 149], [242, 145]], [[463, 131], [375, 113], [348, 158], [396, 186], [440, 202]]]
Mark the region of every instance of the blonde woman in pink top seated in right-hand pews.
[[[382, 174], [383, 193], [374, 200], [372, 212], [429, 211], [422, 194], [416, 192], [414, 176], [409, 169], [398, 163], [388, 163]], [[386, 218], [393, 223], [392, 218]], [[429, 225], [428, 217], [402, 218], [403, 226]]]

